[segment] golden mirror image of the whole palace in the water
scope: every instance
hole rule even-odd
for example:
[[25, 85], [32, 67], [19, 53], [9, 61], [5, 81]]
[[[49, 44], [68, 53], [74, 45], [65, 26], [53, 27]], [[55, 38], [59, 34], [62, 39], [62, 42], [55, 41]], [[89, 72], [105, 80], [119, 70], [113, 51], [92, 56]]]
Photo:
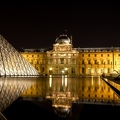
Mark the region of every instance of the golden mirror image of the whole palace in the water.
[[72, 103], [119, 104], [120, 102], [115, 92], [99, 77], [39, 78], [35, 85], [23, 93], [22, 97], [37, 100], [49, 99], [52, 101], [55, 112], [61, 116], [70, 114]]

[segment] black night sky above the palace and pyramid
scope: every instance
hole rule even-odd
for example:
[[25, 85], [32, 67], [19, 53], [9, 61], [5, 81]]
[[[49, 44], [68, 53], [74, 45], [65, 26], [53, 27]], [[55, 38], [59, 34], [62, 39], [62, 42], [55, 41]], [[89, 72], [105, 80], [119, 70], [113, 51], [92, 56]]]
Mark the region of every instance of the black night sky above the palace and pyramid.
[[2, 2], [0, 34], [16, 49], [50, 47], [60, 34], [72, 35], [73, 47], [119, 47], [120, 4]]

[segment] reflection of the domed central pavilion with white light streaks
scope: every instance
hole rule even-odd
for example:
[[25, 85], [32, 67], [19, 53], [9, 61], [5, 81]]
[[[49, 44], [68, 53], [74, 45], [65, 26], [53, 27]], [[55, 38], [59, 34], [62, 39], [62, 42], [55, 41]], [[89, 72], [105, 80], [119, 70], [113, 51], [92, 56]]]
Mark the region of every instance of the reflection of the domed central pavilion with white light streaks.
[[[53, 82], [53, 84], [52, 84]], [[71, 112], [72, 102], [78, 100], [77, 89], [71, 89], [67, 81], [67, 76], [62, 76], [59, 86], [54, 84], [55, 81], [52, 81], [52, 76], [49, 78], [49, 88], [46, 93], [46, 99], [52, 101], [52, 106], [54, 111], [63, 117], [66, 117]]]

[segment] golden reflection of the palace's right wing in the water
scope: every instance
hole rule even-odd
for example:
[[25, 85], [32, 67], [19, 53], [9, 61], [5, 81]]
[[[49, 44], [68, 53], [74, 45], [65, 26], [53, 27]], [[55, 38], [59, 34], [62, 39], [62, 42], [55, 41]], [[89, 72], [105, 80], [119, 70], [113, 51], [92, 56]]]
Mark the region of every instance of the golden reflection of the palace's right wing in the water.
[[[79, 89], [80, 101], [91, 102], [118, 102], [119, 97], [100, 78], [88, 78], [81, 81]], [[120, 86], [119, 86], [120, 88]]]

